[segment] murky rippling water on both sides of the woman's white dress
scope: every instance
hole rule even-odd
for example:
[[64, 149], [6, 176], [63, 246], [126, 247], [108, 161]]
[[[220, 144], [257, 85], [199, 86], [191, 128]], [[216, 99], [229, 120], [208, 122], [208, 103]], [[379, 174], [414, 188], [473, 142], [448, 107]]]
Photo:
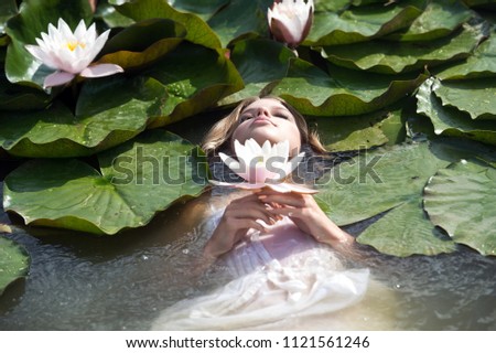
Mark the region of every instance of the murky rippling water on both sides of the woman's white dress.
[[[179, 203], [143, 228], [95, 238], [53, 229], [14, 232], [32, 256], [30, 275], [0, 298], [1, 330], [148, 330], [161, 310], [228, 280], [201, 275], [211, 196]], [[351, 227], [357, 234], [364, 225]], [[398, 330], [496, 330], [496, 259], [467, 249], [364, 263], [397, 295]], [[386, 299], [384, 299], [385, 301]], [[388, 302], [375, 302], [381, 310]]]

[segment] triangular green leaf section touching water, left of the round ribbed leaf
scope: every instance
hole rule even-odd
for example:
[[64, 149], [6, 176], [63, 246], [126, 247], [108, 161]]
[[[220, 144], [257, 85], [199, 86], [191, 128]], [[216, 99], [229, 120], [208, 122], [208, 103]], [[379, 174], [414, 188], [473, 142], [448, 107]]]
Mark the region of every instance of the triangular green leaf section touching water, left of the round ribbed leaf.
[[414, 254], [452, 253], [456, 245], [432, 227], [421, 212], [421, 196], [400, 204], [368, 226], [357, 238], [382, 254], [406, 257]]

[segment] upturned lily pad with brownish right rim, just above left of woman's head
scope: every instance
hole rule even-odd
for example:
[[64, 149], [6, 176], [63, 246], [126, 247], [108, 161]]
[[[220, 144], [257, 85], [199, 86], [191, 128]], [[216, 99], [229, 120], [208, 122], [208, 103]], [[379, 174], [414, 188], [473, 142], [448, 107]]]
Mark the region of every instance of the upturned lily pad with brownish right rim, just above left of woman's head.
[[223, 50], [188, 42], [165, 55], [145, 74], [162, 83], [168, 94], [161, 115], [150, 127], [162, 127], [191, 117], [244, 87], [241, 76]]

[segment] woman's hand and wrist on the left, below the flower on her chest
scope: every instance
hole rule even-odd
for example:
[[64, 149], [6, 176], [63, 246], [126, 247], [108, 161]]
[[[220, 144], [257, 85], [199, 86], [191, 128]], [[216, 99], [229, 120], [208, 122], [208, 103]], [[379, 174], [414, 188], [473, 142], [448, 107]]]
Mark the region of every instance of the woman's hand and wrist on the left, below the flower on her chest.
[[278, 215], [271, 214], [266, 203], [260, 202], [257, 194], [236, 199], [227, 205], [220, 223], [204, 248], [204, 256], [215, 258], [229, 252], [237, 243], [246, 239], [250, 228], [266, 232], [257, 221], [273, 224]]

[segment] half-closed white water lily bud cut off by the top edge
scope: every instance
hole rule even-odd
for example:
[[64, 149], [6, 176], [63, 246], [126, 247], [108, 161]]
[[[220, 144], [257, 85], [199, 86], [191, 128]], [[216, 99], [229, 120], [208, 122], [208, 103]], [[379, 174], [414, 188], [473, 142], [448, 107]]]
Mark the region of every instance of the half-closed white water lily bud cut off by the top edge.
[[279, 42], [296, 47], [312, 28], [313, 9], [313, 0], [274, 1], [267, 11], [270, 32]]

